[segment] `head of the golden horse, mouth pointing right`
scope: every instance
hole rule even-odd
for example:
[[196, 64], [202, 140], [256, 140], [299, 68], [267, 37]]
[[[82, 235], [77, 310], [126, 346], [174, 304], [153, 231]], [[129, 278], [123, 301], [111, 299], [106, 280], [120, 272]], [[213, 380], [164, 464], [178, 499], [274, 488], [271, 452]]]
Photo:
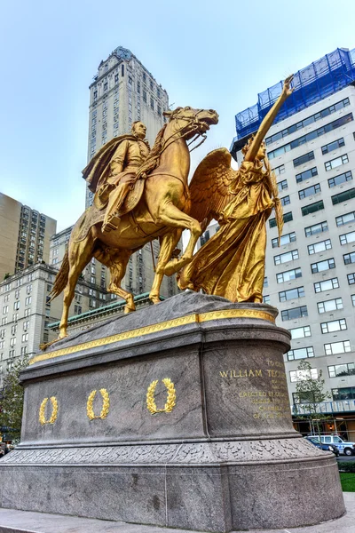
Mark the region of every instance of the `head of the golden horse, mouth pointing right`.
[[177, 107], [174, 111], [165, 111], [170, 123], [176, 122], [176, 130], [184, 132], [185, 139], [191, 139], [196, 133], [205, 133], [209, 126], [218, 123], [218, 114], [214, 109], [193, 109]]

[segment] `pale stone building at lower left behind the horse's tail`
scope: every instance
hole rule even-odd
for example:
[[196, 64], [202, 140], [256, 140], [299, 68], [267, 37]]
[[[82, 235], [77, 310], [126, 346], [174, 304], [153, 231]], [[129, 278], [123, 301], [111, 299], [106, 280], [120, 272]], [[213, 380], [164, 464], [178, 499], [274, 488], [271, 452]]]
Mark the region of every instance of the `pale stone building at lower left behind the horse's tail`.
[[[37, 263], [0, 283], [0, 388], [5, 371], [17, 359], [36, 354], [42, 343], [58, 337], [58, 331], [49, 328], [63, 309], [62, 296], [50, 301], [57, 273], [56, 268]], [[81, 278], [69, 314], [90, 312], [105, 302], [106, 291]]]

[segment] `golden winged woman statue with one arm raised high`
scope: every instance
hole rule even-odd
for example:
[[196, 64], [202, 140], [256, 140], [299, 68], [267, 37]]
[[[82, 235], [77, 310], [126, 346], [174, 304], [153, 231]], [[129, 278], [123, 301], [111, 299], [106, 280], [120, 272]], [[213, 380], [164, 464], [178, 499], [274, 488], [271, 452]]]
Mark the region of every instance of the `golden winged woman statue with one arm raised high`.
[[283, 218], [275, 174], [266, 155], [264, 136], [283, 102], [291, 94], [288, 76], [279, 99], [265, 115], [259, 130], [242, 149], [238, 171], [231, 168], [226, 148], [210, 152], [197, 167], [190, 184], [190, 216], [218, 220], [220, 229], [179, 274], [180, 289], [203, 289], [233, 302], [262, 302], [266, 220], [275, 209], [282, 234]]

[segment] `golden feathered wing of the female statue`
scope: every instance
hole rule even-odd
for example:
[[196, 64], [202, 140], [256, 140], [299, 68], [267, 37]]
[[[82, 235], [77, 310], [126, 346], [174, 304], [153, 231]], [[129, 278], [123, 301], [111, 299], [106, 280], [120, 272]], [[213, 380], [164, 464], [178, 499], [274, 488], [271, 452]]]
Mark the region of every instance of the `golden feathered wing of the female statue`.
[[231, 167], [232, 155], [226, 148], [209, 152], [194, 171], [189, 190], [191, 194], [190, 216], [199, 222], [218, 219], [229, 203], [238, 184], [238, 171]]

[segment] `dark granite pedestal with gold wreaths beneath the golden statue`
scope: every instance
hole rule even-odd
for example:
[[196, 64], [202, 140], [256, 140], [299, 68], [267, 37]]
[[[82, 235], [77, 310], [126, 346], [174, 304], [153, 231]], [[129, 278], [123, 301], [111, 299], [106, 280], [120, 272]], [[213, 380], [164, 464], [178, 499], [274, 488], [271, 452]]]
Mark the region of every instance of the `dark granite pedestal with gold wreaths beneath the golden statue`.
[[0, 506], [221, 533], [341, 516], [335, 457], [292, 426], [276, 314], [185, 292], [37, 354]]

